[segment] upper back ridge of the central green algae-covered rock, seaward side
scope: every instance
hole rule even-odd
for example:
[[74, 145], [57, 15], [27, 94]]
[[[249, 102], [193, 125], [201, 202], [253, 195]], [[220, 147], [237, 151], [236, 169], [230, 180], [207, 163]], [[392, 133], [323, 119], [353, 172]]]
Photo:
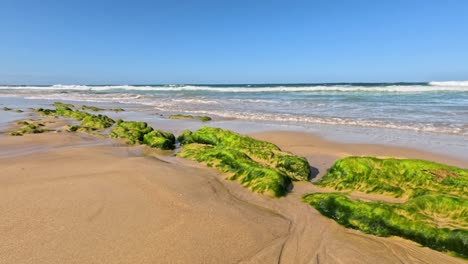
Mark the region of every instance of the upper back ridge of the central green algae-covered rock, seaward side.
[[199, 143], [238, 149], [253, 160], [286, 174], [292, 180], [308, 180], [310, 166], [303, 157], [281, 151], [276, 145], [221, 128], [202, 127], [191, 133], [184, 131], [178, 140], [181, 144]]

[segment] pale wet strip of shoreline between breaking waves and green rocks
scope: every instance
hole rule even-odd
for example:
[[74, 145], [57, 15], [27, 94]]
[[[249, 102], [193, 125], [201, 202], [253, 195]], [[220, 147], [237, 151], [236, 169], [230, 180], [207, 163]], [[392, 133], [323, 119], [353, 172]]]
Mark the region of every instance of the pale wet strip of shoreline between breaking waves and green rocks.
[[[57, 99], [58, 100], [58, 99]], [[0, 111], [0, 130], [5, 128], [5, 123], [16, 119], [25, 118], [28, 115], [28, 108], [50, 108], [50, 105], [57, 101], [54, 99], [25, 99], [21, 97], [0, 97], [0, 106], [17, 107], [25, 110], [24, 113], [9, 113]], [[210, 122], [198, 122], [194, 120], [170, 120], [171, 114], [193, 114], [190, 111], [173, 112], [159, 111], [152, 106], [139, 104], [122, 104], [110, 102], [87, 102], [62, 100], [66, 103], [77, 105], [92, 104], [103, 108], [123, 107], [127, 111], [114, 113], [103, 111], [102, 114], [111, 118], [141, 120], [151, 126], [179, 134], [184, 129], [196, 130], [203, 125], [220, 127], [233, 130], [241, 134], [251, 134], [268, 131], [289, 131], [313, 134], [324, 140], [346, 144], [376, 144], [395, 147], [408, 147], [423, 151], [438, 153], [444, 156], [452, 156], [457, 159], [468, 152], [468, 137], [463, 135], [440, 134], [431, 132], [419, 132], [413, 130], [359, 127], [351, 125], [329, 125], [329, 124], [291, 124], [275, 123], [266, 121], [249, 121], [232, 118], [215, 117]], [[468, 158], [467, 158], [468, 160]]]

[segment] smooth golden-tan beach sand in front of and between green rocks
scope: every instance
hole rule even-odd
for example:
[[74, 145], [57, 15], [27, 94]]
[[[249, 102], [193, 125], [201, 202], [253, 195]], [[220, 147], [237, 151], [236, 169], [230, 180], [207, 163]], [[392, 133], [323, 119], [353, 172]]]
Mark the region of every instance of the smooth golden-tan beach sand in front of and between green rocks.
[[[412, 157], [305, 134], [255, 137], [320, 173], [349, 154]], [[0, 136], [0, 150], [0, 263], [466, 263], [339, 226], [301, 202], [310, 183], [271, 199], [191, 161], [82, 134]]]

